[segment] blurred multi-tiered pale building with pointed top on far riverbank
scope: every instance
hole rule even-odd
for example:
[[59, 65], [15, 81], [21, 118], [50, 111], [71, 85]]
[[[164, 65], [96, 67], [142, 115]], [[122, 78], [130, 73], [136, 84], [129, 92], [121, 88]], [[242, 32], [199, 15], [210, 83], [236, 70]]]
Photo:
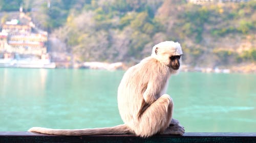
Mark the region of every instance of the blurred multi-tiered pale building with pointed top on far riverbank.
[[32, 67], [51, 64], [47, 53], [47, 37], [47, 32], [39, 30], [29, 16], [20, 12], [19, 19], [11, 19], [2, 25], [0, 66], [15, 62], [19, 63], [17, 67], [22, 67], [20, 64], [23, 63], [26, 63], [25, 67], [29, 67], [30, 63], [33, 63]]

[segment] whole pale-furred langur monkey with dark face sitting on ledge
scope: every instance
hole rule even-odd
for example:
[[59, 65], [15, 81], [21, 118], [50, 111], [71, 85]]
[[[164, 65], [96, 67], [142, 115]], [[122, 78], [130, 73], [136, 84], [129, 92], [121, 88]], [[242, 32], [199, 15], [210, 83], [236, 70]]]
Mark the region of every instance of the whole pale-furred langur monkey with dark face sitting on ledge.
[[30, 132], [54, 135], [184, 134], [178, 120], [172, 119], [174, 103], [165, 94], [168, 79], [178, 72], [182, 50], [178, 42], [165, 41], [153, 47], [151, 56], [129, 68], [118, 87], [118, 108], [122, 125], [94, 129], [48, 129], [33, 127]]

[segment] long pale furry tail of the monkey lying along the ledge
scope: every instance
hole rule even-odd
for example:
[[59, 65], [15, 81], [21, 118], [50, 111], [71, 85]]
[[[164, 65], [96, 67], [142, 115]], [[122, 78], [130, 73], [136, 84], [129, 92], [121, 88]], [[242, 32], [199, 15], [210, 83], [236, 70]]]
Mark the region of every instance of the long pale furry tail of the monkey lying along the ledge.
[[49, 129], [41, 127], [32, 127], [29, 132], [38, 132], [53, 135], [102, 135], [102, 134], [130, 134], [129, 127], [125, 124], [117, 125], [114, 127], [94, 128], [94, 129]]

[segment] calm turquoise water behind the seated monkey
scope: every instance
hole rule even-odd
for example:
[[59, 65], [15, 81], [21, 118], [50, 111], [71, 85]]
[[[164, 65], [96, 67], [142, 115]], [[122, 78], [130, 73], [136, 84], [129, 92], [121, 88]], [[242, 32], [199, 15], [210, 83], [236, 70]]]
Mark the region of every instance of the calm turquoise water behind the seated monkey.
[[[0, 131], [122, 124], [124, 71], [0, 68]], [[180, 73], [167, 93], [187, 132], [256, 132], [256, 74]]]

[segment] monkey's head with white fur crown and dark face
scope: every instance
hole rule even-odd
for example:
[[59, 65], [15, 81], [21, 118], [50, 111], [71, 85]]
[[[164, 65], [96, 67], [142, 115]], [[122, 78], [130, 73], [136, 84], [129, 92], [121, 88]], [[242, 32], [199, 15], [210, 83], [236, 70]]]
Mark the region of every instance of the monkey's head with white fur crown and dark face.
[[153, 47], [152, 55], [170, 69], [178, 70], [181, 65], [181, 46], [178, 42], [165, 41]]

